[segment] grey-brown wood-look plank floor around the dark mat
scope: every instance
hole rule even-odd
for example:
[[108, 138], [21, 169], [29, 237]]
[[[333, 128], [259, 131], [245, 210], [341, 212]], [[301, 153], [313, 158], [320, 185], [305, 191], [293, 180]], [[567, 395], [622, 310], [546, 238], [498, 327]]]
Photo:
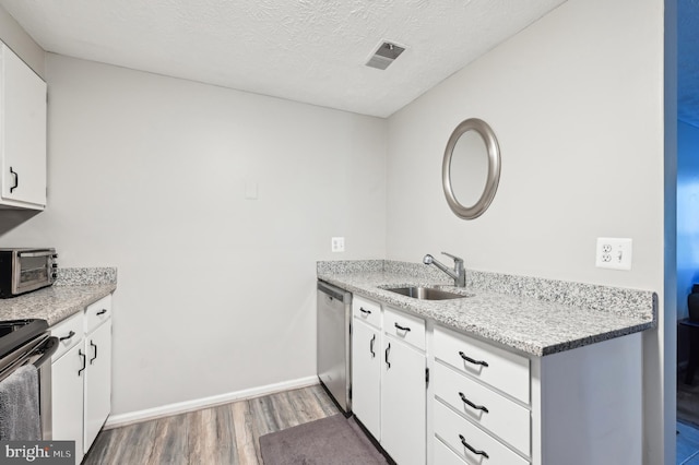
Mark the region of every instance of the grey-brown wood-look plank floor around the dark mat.
[[320, 385], [102, 431], [83, 465], [262, 465], [259, 438], [339, 410]]

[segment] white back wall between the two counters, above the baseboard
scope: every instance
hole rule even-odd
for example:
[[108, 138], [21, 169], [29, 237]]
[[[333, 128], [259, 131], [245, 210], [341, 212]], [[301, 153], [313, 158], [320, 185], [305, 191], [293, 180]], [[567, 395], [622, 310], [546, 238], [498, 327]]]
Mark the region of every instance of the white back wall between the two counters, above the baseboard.
[[386, 253], [386, 120], [50, 53], [47, 74], [49, 204], [0, 243], [118, 266], [112, 413], [315, 375], [316, 261]]

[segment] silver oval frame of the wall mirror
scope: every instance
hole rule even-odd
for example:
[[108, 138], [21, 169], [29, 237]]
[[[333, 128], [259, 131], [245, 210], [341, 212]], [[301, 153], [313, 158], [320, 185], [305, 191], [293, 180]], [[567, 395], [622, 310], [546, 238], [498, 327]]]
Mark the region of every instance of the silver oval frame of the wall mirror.
[[[481, 198], [471, 206], [459, 203], [451, 186], [451, 156], [453, 155], [454, 146], [459, 138], [469, 131], [476, 131], [481, 138], [483, 138], [488, 156], [488, 175], [485, 188], [483, 189]], [[490, 206], [490, 202], [493, 202], [495, 192], [498, 190], [498, 183], [500, 182], [500, 147], [495, 132], [493, 132], [488, 123], [478, 118], [470, 118], [462, 121], [457, 129], [454, 129], [445, 150], [445, 159], [441, 165], [441, 182], [449, 207], [460, 218], [475, 219], [483, 215], [488, 206]]]

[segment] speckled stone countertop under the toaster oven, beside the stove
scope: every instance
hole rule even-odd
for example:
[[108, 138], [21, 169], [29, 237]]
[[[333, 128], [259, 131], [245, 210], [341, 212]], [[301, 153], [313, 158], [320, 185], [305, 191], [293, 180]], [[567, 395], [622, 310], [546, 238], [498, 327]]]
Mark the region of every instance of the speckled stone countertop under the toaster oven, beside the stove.
[[116, 269], [59, 269], [51, 287], [0, 299], [0, 321], [38, 318], [50, 325], [114, 293]]

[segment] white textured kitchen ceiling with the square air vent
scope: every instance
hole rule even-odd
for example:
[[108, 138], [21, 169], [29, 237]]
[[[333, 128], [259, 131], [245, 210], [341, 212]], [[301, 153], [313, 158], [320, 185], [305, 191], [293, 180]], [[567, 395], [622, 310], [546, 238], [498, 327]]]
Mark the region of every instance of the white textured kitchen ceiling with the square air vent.
[[[388, 117], [565, 0], [0, 0], [47, 51]], [[406, 47], [386, 71], [364, 63]]]

